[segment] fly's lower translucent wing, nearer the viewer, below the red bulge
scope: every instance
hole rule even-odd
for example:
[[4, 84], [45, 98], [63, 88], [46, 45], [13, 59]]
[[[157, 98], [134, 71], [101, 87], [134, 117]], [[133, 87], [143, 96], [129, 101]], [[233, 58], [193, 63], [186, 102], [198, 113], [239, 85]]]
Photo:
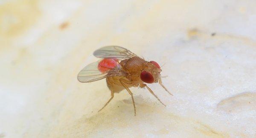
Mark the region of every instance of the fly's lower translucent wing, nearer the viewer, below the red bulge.
[[79, 82], [94, 82], [104, 79], [108, 76], [125, 76], [125, 72], [121, 68], [110, 68], [109, 71], [102, 73], [98, 70], [99, 61], [93, 62], [85, 66], [77, 76]]

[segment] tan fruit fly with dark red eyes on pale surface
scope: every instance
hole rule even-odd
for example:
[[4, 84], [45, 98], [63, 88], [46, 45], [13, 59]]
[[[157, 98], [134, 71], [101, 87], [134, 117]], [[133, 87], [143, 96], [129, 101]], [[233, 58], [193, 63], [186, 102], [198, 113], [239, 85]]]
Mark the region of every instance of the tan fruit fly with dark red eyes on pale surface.
[[[155, 61], [146, 61], [131, 51], [119, 46], [106, 46], [93, 53], [99, 61], [93, 62], [84, 67], [78, 74], [79, 82], [94, 82], [105, 79], [111, 91], [111, 98], [99, 110], [101, 111], [113, 99], [114, 93], [126, 89], [131, 95], [136, 116], [136, 107], [133, 93], [130, 87], [146, 87], [148, 91], [158, 100], [160, 99], [147, 86], [147, 83], [159, 83], [169, 94], [171, 94], [162, 84], [160, 66]], [[172, 94], [171, 94], [172, 95]], [[162, 101], [160, 101], [163, 104]], [[166, 106], [165, 104], [163, 104]], [[98, 111], [98, 112], [99, 112]]]

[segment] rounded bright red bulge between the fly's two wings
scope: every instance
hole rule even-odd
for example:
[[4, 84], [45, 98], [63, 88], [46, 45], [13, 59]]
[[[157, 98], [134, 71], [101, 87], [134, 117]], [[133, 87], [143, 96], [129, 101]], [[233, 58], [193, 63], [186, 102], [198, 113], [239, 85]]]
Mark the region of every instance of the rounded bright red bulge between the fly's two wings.
[[102, 73], [115, 68], [119, 63], [116, 59], [102, 59], [98, 64], [98, 70]]

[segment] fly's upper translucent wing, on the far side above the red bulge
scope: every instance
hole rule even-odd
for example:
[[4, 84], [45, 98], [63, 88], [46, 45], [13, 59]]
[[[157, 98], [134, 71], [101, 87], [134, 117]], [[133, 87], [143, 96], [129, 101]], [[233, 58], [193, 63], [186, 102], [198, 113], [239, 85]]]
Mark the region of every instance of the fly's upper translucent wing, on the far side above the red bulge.
[[120, 46], [105, 46], [94, 51], [93, 55], [105, 59], [128, 59], [137, 56], [128, 49]]

